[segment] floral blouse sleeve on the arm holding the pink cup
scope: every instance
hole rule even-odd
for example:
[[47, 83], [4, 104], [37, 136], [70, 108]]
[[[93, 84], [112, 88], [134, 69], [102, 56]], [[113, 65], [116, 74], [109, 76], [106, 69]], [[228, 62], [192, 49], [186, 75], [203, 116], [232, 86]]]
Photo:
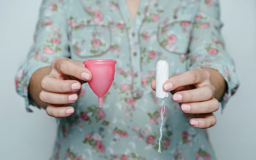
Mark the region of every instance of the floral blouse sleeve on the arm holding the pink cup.
[[32, 109], [29, 108], [30, 105], [35, 106], [28, 96], [28, 86], [32, 74], [41, 67], [50, 66], [52, 60], [57, 57], [70, 56], [64, 6], [62, 0], [43, 0], [34, 44], [15, 76], [16, 91], [25, 98], [28, 112], [32, 112]]

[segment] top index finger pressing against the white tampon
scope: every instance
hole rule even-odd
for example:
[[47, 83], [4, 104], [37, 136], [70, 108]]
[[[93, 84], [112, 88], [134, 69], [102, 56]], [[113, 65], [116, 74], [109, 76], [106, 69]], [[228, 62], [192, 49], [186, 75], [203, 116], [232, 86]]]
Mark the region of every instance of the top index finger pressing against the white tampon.
[[210, 74], [207, 70], [204, 70], [201, 68], [198, 68], [195, 70], [189, 70], [185, 73], [169, 78], [163, 84], [163, 90], [172, 91], [172, 90], [176, 90], [179, 87], [192, 85], [192, 84], [204, 85], [204, 82], [209, 83], [209, 77], [210, 77]]

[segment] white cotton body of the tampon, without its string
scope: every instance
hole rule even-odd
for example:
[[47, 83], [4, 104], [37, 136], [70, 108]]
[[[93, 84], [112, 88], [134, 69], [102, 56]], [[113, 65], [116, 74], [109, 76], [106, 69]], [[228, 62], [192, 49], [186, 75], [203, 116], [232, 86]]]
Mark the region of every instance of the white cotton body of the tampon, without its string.
[[169, 92], [163, 90], [163, 83], [169, 79], [169, 65], [166, 61], [160, 60], [157, 62], [156, 69], [156, 97], [168, 98]]

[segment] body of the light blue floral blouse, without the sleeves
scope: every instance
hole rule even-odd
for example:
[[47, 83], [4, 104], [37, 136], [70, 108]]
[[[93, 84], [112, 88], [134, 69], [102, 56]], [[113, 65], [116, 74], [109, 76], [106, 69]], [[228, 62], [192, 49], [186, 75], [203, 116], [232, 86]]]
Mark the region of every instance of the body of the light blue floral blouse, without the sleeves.
[[115, 59], [117, 64], [103, 108], [83, 84], [75, 113], [59, 121], [52, 159], [215, 160], [205, 130], [189, 125], [172, 96], [165, 100], [157, 152], [162, 101], [150, 84], [160, 59], [168, 61], [169, 76], [187, 70], [198, 0], [141, 0], [134, 20], [125, 0], [69, 0], [65, 9], [71, 59]]

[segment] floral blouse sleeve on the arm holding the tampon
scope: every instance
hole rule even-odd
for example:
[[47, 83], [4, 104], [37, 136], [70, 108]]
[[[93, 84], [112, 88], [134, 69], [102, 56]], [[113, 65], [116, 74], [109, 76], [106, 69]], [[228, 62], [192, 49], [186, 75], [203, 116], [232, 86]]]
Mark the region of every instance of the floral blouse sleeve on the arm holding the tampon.
[[225, 50], [221, 37], [220, 8], [218, 0], [201, 0], [195, 16], [191, 44], [187, 59], [189, 70], [213, 68], [218, 70], [227, 82], [227, 90], [221, 98], [221, 108], [239, 87], [239, 80], [232, 57]]

